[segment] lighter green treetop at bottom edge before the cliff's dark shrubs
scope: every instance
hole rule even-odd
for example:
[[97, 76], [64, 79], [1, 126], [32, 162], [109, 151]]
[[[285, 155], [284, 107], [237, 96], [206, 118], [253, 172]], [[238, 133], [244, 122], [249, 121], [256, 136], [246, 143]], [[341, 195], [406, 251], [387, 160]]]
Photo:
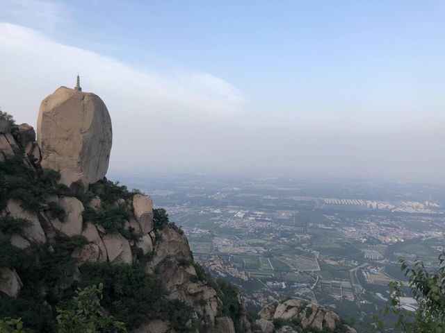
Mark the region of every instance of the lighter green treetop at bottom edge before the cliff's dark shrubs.
[[58, 333], [122, 333], [127, 332], [124, 323], [106, 314], [100, 305], [104, 286], [92, 285], [76, 291], [74, 305], [67, 309], [57, 308]]

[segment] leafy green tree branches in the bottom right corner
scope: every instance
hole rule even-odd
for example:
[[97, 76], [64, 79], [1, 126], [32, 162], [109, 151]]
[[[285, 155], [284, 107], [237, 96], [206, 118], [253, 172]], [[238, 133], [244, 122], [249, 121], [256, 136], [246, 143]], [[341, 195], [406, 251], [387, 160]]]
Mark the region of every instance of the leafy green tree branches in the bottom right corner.
[[[412, 266], [405, 259], [400, 263], [408, 278], [407, 287], [419, 308], [414, 313], [403, 309], [401, 298], [405, 296], [405, 284], [394, 281], [389, 283], [391, 298], [384, 314], [395, 314], [395, 327], [402, 332], [445, 332], [445, 251], [439, 255], [439, 266], [435, 271], [428, 270], [419, 259]], [[382, 321], [377, 321], [376, 327], [380, 332], [388, 331]]]

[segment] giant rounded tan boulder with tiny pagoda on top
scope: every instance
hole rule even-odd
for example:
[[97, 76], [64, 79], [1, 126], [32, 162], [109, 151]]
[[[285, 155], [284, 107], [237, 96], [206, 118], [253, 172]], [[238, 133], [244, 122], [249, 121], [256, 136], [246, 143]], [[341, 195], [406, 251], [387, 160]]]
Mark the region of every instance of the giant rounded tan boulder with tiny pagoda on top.
[[86, 191], [106, 175], [112, 130], [99, 96], [58, 88], [40, 104], [37, 137], [42, 167], [60, 171], [61, 183]]

